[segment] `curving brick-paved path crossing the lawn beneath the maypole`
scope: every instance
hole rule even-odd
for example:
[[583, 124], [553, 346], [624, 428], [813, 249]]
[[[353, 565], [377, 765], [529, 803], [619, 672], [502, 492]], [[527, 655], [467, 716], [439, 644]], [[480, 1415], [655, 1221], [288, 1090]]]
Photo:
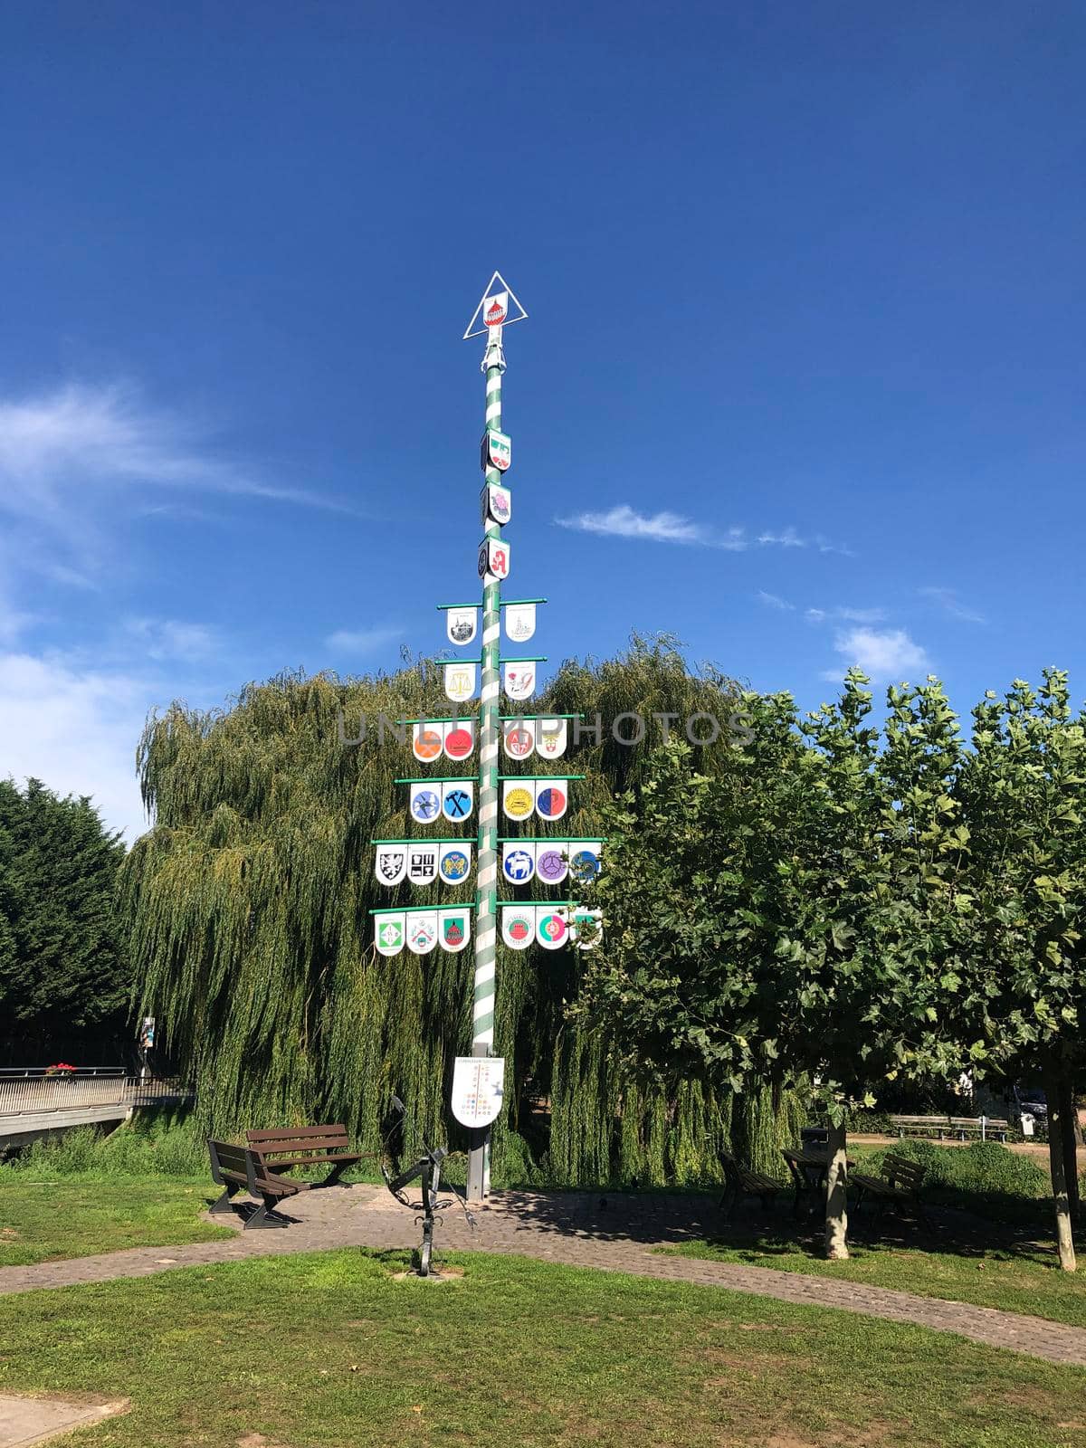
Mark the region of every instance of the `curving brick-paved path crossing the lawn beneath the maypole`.
[[[332, 1247], [414, 1247], [420, 1237], [413, 1213], [397, 1206], [384, 1189], [355, 1186], [310, 1192], [287, 1203], [287, 1209], [295, 1225], [282, 1231], [239, 1231], [232, 1241], [138, 1247], [36, 1267], [3, 1267], [0, 1293], [109, 1281], [114, 1277], [143, 1277], [174, 1267]], [[478, 1213], [478, 1229], [473, 1234], [459, 1208], [446, 1211], [439, 1245], [520, 1254], [573, 1267], [728, 1287], [780, 1302], [840, 1308], [844, 1312], [957, 1332], [975, 1342], [1011, 1348], [1050, 1363], [1086, 1367], [1083, 1328], [996, 1312], [993, 1308], [917, 1297], [886, 1287], [654, 1251], [657, 1247], [711, 1237], [718, 1226], [720, 1216], [711, 1197], [620, 1193], [601, 1199], [591, 1192], [500, 1192]]]

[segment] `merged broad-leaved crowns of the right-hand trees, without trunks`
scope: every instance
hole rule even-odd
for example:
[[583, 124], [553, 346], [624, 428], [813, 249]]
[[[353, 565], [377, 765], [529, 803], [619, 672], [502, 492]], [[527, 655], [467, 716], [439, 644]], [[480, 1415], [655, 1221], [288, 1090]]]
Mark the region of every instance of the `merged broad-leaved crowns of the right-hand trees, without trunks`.
[[[646, 1079], [818, 1079], [840, 1118], [1077, 1050], [1086, 995], [1086, 730], [1066, 676], [975, 712], [859, 670], [799, 720], [747, 695], [753, 741], [707, 773], [654, 750], [605, 809], [607, 930], [575, 1018]], [[663, 902], [663, 904], [662, 904]]]

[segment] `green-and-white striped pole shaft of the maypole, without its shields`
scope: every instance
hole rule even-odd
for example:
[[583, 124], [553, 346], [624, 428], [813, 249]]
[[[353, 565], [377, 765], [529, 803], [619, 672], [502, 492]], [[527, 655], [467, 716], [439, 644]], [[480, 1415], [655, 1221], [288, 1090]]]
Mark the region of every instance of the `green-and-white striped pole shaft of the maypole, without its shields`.
[[[487, 375], [487, 432], [501, 432], [501, 327], [491, 327], [482, 358]], [[487, 484], [500, 484], [501, 471], [487, 459]], [[501, 527], [487, 524], [487, 537], [500, 539]], [[472, 1056], [494, 1054], [494, 999], [498, 956], [498, 744], [501, 736], [501, 582], [488, 576], [482, 594], [482, 675], [479, 707], [479, 843], [478, 906], [475, 911], [475, 1001]], [[491, 1186], [489, 1127], [476, 1131], [468, 1158], [468, 1200], [481, 1202]]]

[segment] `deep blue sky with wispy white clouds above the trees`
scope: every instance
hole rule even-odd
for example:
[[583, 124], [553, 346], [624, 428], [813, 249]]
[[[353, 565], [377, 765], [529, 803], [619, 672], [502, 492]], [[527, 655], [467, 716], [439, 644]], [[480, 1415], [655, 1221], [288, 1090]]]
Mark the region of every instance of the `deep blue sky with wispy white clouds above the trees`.
[[132, 837], [151, 707], [442, 644], [495, 266], [552, 663], [1086, 692], [1083, 42], [1058, 0], [9, 7], [0, 772]]

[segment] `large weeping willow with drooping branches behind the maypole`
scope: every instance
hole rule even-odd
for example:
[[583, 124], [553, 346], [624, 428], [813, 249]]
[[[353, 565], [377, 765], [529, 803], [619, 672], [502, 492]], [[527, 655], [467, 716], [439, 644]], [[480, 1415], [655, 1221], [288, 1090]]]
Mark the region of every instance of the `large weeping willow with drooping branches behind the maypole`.
[[[573, 767], [586, 778], [566, 818], [537, 830], [591, 837], [613, 794], [637, 788], [647, 749], [614, 737], [621, 715], [634, 715], [618, 730], [631, 737], [636, 718], [659, 731], [654, 714], [724, 721], [736, 707], [731, 681], [691, 673], [673, 640], [568, 662], [539, 711], [585, 715]], [[164, 1024], [206, 1129], [345, 1121], [375, 1150], [395, 1092], [418, 1137], [447, 1134], [452, 1061], [471, 1048], [471, 951], [388, 960], [368, 915], [462, 895], [378, 886], [369, 844], [413, 833], [394, 783], [410, 747], [378, 720], [446, 712], [440, 669], [420, 660], [362, 679], [281, 675], [226, 710], [175, 704], [149, 720], [138, 759], [155, 825], [127, 857], [123, 902], [139, 1009]], [[721, 767], [727, 749], [724, 728], [702, 769]], [[537, 767], [560, 773], [569, 759]], [[495, 1129], [498, 1170], [507, 1147], [518, 1170], [524, 1137], [566, 1183], [712, 1179], [717, 1147], [736, 1140], [762, 1166], [779, 1161], [791, 1100], [733, 1105], [694, 1082], [670, 1096], [624, 1082], [605, 1037], [566, 1022], [576, 989], [576, 953], [500, 947], [495, 1038], [514, 1089]]]

